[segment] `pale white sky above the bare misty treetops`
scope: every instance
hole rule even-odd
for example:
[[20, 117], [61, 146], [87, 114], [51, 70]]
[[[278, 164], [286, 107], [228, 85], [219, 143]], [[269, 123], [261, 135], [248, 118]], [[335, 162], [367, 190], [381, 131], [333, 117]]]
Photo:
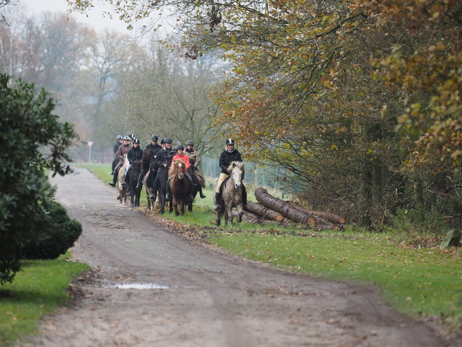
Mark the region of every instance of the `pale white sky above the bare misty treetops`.
[[[32, 15], [40, 15], [43, 12], [63, 12], [69, 9], [66, 0], [20, 0], [20, 4], [27, 8], [27, 11]], [[109, 6], [104, 6], [99, 1], [94, 1], [94, 8], [90, 9], [87, 14], [72, 13], [71, 17], [76, 18], [78, 22], [83, 22], [86, 25], [93, 27], [95, 30], [103, 31], [104, 29], [113, 29], [125, 34], [134, 36], [137, 34], [136, 29], [127, 30], [127, 23], [118, 20], [118, 18], [104, 17], [103, 12], [109, 11]]]

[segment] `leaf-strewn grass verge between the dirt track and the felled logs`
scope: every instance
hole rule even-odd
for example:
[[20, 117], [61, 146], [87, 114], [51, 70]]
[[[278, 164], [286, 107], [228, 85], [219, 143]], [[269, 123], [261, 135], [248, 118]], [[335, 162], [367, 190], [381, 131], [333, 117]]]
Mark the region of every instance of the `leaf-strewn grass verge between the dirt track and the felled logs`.
[[461, 324], [462, 268], [461, 258], [454, 254], [405, 249], [384, 238], [244, 233], [218, 236], [210, 242], [275, 268], [375, 285], [398, 311], [414, 317], [442, 315], [452, 327]]

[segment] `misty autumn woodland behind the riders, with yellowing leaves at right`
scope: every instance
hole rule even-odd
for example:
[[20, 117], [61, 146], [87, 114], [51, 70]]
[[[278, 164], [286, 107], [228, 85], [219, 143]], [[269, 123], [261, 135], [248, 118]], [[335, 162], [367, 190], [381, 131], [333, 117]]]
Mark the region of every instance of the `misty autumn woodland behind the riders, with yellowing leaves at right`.
[[[110, 161], [123, 133], [207, 156], [234, 137], [311, 210], [374, 230], [462, 222], [460, 1], [114, 1], [127, 23], [152, 19], [142, 43], [8, 2], [1, 69], [52, 93], [75, 160], [95, 140]], [[167, 8], [176, 26], [160, 37]]]

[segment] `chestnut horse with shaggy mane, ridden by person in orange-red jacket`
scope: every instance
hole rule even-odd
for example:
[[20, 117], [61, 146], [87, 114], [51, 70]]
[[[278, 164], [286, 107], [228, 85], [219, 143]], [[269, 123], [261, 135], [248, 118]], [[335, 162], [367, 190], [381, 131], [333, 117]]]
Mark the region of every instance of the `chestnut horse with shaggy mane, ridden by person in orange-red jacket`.
[[[170, 195], [172, 196], [172, 205], [177, 216], [185, 214], [186, 200], [188, 200], [189, 196], [189, 180], [185, 173], [186, 164], [183, 160], [176, 160], [170, 165]], [[180, 205], [180, 210], [178, 210], [178, 205]]]

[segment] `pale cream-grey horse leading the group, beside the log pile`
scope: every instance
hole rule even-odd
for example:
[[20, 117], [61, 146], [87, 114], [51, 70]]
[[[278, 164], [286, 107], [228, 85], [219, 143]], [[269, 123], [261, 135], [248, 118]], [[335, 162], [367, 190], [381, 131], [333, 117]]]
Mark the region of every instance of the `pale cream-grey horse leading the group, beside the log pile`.
[[[237, 209], [237, 222], [242, 221], [242, 213], [244, 204], [242, 202], [242, 180], [244, 179], [245, 166], [241, 161], [233, 161], [228, 166], [228, 172], [230, 177], [225, 179], [221, 186], [221, 200], [215, 201], [216, 204], [220, 205], [220, 210], [216, 214], [216, 225], [220, 226], [221, 217], [225, 215], [225, 226], [228, 226], [228, 219], [232, 227], [232, 208]], [[218, 182], [215, 184], [215, 191]]]

